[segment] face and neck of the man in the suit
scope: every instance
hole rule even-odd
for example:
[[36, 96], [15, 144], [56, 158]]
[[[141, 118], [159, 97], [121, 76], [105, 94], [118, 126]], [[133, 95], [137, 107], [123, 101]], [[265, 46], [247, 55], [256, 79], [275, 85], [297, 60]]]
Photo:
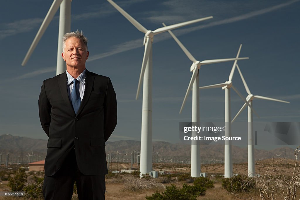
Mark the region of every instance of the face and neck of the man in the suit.
[[62, 58], [67, 63], [67, 68], [85, 68], [85, 61], [88, 59], [89, 52], [81, 39], [70, 37], [65, 42], [64, 52], [61, 53]]

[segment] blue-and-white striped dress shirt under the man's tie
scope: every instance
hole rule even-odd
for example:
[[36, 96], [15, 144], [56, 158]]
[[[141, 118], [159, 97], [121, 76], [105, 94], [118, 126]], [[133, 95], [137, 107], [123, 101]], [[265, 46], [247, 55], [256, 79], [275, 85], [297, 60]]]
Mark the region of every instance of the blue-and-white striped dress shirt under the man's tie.
[[[76, 79], [80, 83], [80, 84], [76, 84], [77, 86], [76, 89], [77, 91], [79, 91], [80, 99], [82, 100], [84, 95], [84, 87], [85, 87], [85, 70]], [[68, 91], [68, 96], [70, 101], [71, 101], [71, 93], [74, 87], [73, 80], [74, 78], [67, 71], [67, 91]]]

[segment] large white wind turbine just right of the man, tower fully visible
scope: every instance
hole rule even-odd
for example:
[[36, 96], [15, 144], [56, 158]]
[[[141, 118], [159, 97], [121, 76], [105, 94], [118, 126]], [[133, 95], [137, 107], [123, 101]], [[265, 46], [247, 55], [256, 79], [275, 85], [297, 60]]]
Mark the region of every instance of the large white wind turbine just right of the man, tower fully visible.
[[140, 157], [140, 175], [152, 171], [152, 43], [156, 34], [166, 32], [171, 29], [180, 28], [185, 25], [211, 19], [212, 16], [195, 19], [188, 22], [182, 22], [167, 27], [158, 28], [155, 31], [147, 30], [121, 7], [112, 0], [107, 0], [113, 5], [129, 22], [131, 22], [139, 31], [145, 34], [144, 45], [145, 52], [143, 56], [142, 68], [139, 84], [137, 87], [137, 96], [139, 97], [140, 87], [143, 81], [143, 106], [142, 106], [142, 130], [141, 130], [141, 157]]

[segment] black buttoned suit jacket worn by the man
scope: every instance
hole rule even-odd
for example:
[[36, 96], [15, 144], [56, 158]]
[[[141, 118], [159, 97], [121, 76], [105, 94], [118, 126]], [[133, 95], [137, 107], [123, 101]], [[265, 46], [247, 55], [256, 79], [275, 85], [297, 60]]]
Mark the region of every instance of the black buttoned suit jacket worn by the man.
[[44, 80], [38, 100], [41, 125], [49, 137], [45, 175], [52, 176], [74, 148], [85, 175], [107, 174], [105, 142], [117, 124], [116, 93], [110, 78], [86, 70], [77, 115], [67, 94], [67, 74]]

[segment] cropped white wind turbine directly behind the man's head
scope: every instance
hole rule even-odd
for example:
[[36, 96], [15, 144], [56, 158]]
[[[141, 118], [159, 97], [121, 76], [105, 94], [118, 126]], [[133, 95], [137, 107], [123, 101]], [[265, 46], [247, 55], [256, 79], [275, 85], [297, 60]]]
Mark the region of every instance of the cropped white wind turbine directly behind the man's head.
[[29, 60], [32, 52], [35, 50], [38, 42], [46, 31], [49, 23], [53, 19], [56, 11], [60, 7], [59, 10], [59, 28], [58, 28], [58, 46], [57, 46], [57, 64], [56, 64], [56, 75], [63, 73], [66, 70], [66, 65], [64, 64], [64, 60], [61, 57], [62, 52], [62, 37], [67, 32], [71, 31], [71, 0], [54, 0], [38, 33], [35, 36], [26, 56], [22, 62], [22, 66], [24, 66]]

